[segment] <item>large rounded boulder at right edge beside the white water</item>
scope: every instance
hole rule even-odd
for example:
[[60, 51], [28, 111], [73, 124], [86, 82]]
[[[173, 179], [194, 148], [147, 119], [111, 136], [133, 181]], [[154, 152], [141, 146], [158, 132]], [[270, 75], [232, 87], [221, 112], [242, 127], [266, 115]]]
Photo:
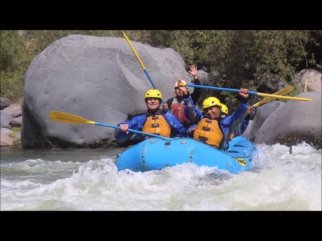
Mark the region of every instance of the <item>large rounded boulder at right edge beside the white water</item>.
[[291, 100], [274, 111], [258, 130], [255, 143], [292, 146], [305, 141], [321, 148], [321, 94], [302, 92], [297, 97], [314, 100]]

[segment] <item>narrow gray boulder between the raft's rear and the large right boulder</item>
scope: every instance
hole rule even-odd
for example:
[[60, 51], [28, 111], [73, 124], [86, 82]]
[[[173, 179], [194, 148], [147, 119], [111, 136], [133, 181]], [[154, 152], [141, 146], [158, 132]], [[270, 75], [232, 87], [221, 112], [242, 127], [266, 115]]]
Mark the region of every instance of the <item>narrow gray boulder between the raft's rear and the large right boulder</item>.
[[[257, 136], [258, 130], [261, 128], [263, 123], [266, 121], [267, 118], [278, 108], [283, 106], [285, 102], [283, 101], [271, 101], [260, 105], [257, 107], [256, 115], [253, 119], [252, 128], [249, 130], [249, 134], [247, 136], [248, 139], [254, 141], [255, 137]], [[245, 134], [246, 136], [246, 134]]]

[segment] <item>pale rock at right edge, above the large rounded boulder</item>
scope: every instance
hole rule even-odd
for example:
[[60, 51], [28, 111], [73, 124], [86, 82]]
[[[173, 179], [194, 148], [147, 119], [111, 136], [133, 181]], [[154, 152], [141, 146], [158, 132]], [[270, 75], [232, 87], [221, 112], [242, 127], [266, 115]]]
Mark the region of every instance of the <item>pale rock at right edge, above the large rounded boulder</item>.
[[299, 88], [304, 89], [307, 80], [307, 89], [311, 92], [322, 92], [321, 72], [315, 69], [303, 69], [297, 74]]

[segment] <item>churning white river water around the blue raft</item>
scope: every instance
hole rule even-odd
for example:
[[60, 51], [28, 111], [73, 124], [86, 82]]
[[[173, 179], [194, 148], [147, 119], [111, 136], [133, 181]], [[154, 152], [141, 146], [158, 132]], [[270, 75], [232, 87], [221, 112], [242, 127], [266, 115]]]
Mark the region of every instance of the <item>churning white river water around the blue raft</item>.
[[322, 210], [321, 150], [256, 145], [253, 169], [117, 171], [126, 148], [1, 148], [0, 210]]

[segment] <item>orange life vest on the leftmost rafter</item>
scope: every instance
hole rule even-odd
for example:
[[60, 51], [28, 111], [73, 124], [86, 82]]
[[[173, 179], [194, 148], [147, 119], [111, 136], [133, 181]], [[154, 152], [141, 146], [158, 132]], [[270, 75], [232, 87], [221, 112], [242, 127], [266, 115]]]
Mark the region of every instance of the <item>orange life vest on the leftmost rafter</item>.
[[162, 114], [147, 116], [142, 132], [170, 137], [171, 127]]

